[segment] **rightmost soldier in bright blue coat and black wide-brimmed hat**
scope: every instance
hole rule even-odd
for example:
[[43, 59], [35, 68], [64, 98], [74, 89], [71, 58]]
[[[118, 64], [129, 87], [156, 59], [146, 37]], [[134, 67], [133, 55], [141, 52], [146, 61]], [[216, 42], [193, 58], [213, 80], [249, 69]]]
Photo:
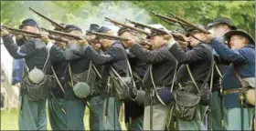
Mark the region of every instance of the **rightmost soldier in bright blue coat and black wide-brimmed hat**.
[[229, 65], [221, 83], [228, 116], [225, 129], [251, 130], [254, 106], [244, 100], [240, 80], [255, 88], [255, 42], [243, 30], [229, 31], [224, 37], [228, 45], [223, 45], [213, 35], [208, 35], [208, 42], [219, 54], [221, 61]]

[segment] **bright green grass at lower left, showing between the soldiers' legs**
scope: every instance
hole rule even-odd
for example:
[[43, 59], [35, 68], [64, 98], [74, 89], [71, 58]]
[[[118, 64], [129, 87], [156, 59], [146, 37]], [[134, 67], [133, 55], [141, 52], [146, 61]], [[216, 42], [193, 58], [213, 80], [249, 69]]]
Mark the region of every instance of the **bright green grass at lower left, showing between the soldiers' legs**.
[[[48, 115], [48, 110], [47, 110]], [[18, 110], [13, 108], [10, 112], [6, 110], [1, 111], [1, 130], [18, 130]], [[84, 115], [84, 124], [85, 129], [89, 130], [89, 109], [86, 108]], [[124, 123], [121, 123], [122, 129], [125, 130]], [[48, 130], [51, 130], [49, 121], [48, 121]]]

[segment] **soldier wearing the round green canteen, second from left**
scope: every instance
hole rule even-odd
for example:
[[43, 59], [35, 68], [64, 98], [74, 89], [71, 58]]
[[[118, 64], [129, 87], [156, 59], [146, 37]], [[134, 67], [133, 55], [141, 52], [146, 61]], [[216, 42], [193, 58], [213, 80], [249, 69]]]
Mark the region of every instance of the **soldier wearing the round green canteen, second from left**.
[[[66, 25], [65, 32], [71, 35], [80, 35], [82, 37], [82, 31], [80, 27], [76, 25]], [[76, 41], [70, 40], [70, 45], [76, 45], [84, 43], [84, 40]], [[79, 82], [85, 82], [86, 72], [90, 66], [90, 60], [86, 55], [82, 55], [82, 46], [77, 49], [76, 58], [69, 60], [69, 64], [65, 69], [65, 95], [64, 100], [66, 104], [67, 112], [67, 125], [68, 130], [84, 130], [84, 112], [87, 100], [75, 95], [73, 87]], [[73, 57], [73, 56], [71, 56]]]

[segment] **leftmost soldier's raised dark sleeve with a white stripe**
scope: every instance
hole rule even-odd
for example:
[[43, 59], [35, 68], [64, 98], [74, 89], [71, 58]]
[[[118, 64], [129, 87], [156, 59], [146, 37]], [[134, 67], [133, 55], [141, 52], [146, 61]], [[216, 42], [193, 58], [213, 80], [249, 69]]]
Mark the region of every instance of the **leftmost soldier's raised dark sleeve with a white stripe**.
[[14, 42], [12, 35], [5, 35], [3, 36], [3, 42], [9, 54], [15, 59], [25, 58], [27, 55], [37, 52], [35, 44], [37, 41], [28, 40], [26, 44], [18, 46]]

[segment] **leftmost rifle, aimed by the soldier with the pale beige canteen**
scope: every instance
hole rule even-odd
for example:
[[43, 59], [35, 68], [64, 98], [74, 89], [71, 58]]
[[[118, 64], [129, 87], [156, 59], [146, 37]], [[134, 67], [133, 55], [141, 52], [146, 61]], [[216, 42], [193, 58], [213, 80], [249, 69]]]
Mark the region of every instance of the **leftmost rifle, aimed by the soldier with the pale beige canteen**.
[[[26, 30], [21, 30], [21, 29], [16, 29], [16, 28], [13, 28], [13, 27], [8, 27], [8, 26], [5, 26], [5, 25], [2, 25], [1, 27], [11, 31], [14, 34], [18, 33], [18, 34], [22, 34], [22, 35], [26, 35], [26, 36], [30, 36], [30, 37], [41, 37], [41, 35], [45, 35], [45, 34], [41, 34], [41, 33], [34, 33], [34, 32], [30, 32], [30, 31], [26, 31]], [[52, 39], [52, 40], [59, 41], [59, 42], [64, 42], [64, 43], [68, 42], [68, 41], [62, 39], [61, 37], [58, 37], [58, 36], [55, 36], [55, 35], [48, 35], [48, 38]]]

